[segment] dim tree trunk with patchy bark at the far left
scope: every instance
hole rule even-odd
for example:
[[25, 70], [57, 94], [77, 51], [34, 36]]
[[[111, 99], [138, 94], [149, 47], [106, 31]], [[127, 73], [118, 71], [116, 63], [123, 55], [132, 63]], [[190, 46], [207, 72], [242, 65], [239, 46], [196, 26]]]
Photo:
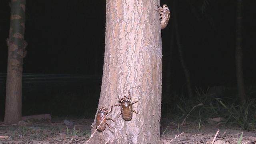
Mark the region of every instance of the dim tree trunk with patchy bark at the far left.
[[6, 78], [4, 122], [17, 123], [22, 109], [22, 64], [26, 54], [24, 46], [26, 0], [12, 0]]

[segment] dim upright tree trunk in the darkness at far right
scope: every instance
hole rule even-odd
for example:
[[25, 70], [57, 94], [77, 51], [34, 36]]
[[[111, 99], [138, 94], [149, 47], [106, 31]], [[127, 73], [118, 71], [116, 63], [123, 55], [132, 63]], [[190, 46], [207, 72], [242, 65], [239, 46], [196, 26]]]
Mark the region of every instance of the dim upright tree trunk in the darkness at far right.
[[242, 66], [242, 0], [237, 0], [236, 14], [236, 79], [238, 95], [241, 102], [243, 103], [246, 100], [246, 95], [244, 90], [244, 74]]

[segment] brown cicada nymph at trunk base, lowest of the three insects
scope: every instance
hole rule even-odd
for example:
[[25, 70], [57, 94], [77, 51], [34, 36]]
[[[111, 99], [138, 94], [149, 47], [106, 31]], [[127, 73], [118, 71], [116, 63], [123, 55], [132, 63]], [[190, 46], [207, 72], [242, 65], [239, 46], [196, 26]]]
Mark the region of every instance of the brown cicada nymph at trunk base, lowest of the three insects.
[[[113, 106], [111, 106], [111, 110], [112, 110], [112, 108], [113, 108]], [[111, 118], [105, 118], [106, 115], [108, 114], [108, 112], [109, 111], [108, 111], [107, 108], [102, 107], [102, 108], [100, 108], [100, 110], [97, 113], [96, 128], [98, 128], [98, 131], [100, 131], [100, 132], [103, 132], [105, 130], [105, 128], [106, 128], [106, 125], [108, 125], [106, 120], [112, 120]], [[114, 120], [112, 120], [112, 121], [115, 122]], [[109, 125], [108, 125], [108, 127], [110, 128]]]

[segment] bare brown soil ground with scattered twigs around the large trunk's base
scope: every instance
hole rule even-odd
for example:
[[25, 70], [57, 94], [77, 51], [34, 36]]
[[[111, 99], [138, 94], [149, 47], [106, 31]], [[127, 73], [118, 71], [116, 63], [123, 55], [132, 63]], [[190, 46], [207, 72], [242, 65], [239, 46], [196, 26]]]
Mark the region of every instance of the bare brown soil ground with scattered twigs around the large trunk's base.
[[[68, 122], [71, 122], [70, 126], [66, 125]], [[64, 119], [56, 119], [52, 122], [29, 121], [19, 125], [0, 123], [0, 144], [85, 144], [90, 137], [92, 122], [92, 119], [73, 119], [64, 124]], [[244, 132], [236, 127], [225, 128], [214, 124], [202, 124], [199, 127], [193, 122], [187, 122], [183, 128], [176, 126], [171, 123], [166, 126], [163, 122], [163, 144], [212, 144], [218, 130], [214, 144], [237, 144], [241, 134], [241, 144], [256, 144], [255, 131]], [[173, 140], [178, 134], [181, 135]]]

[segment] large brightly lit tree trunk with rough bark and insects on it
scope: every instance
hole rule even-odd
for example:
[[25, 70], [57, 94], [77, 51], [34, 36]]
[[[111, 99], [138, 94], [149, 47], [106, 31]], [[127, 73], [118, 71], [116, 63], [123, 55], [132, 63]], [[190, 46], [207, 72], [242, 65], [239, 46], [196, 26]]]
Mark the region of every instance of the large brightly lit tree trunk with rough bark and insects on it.
[[[103, 132], [96, 132], [94, 144], [157, 144], [160, 142], [162, 89], [162, 43], [158, 0], [107, 0], [106, 38], [102, 87], [98, 110], [112, 111]], [[120, 116], [118, 97], [137, 101], [133, 117]], [[97, 111], [98, 112], [98, 111]], [[119, 117], [118, 117], [119, 116]], [[92, 124], [92, 132], [95, 130]]]

